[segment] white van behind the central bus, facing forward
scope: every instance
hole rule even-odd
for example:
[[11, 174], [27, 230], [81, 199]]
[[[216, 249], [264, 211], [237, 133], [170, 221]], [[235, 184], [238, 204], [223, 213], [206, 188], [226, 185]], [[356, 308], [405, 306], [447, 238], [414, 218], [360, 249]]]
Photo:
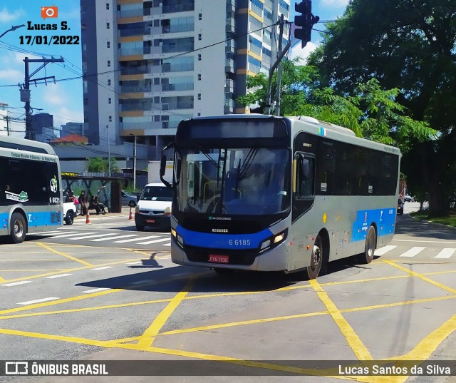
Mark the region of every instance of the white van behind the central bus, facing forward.
[[136, 230], [145, 226], [170, 230], [172, 190], [165, 184], [148, 183], [142, 190], [138, 205], [135, 207]]

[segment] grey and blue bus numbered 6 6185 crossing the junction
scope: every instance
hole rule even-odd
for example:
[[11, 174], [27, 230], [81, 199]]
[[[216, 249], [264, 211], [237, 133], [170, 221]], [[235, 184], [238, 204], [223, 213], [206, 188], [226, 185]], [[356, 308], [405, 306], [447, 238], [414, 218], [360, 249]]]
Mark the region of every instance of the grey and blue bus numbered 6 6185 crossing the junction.
[[[181, 121], [172, 183], [171, 256], [180, 265], [326, 272], [373, 260], [395, 230], [400, 150], [311, 117]], [[164, 151], [165, 153], [165, 151]]]

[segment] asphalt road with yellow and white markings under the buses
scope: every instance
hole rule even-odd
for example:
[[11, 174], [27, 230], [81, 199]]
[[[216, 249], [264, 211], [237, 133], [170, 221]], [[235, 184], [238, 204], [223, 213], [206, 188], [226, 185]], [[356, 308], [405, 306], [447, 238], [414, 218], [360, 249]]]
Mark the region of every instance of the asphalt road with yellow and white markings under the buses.
[[[371, 264], [333, 262], [314, 281], [174, 265], [169, 233], [125, 214], [57, 231], [0, 245], [0, 359], [114, 360], [108, 372], [140, 376], [0, 382], [454, 382], [408, 368], [454, 364], [455, 230], [398, 216]], [[408, 370], [360, 374], [372, 360]]]

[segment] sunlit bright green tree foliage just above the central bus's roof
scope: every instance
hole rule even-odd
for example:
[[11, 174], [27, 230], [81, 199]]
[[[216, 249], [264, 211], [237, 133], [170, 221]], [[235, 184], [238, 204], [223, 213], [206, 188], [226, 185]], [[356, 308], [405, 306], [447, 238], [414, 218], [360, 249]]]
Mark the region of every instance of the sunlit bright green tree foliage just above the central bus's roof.
[[[407, 116], [406, 108], [396, 101], [398, 88], [385, 90], [375, 78], [358, 83], [351, 94], [341, 96], [332, 88], [320, 87], [313, 66], [299, 66], [298, 60], [285, 61], [281, 81], [281, 111], [285, 116], [311, 116], [321, 121], [350, 128], [358, 137], [396, 145], [407, 151], [410, 139], [423, 142], [435, 131], [426, 123]], [[275, 78], [273, 83], [275, 82]], [[265, 107], [266, 76], [247, 78], [252, 93], [239, 98], [245, 105]], [[273, 87], [274, 88], [274, 87]]]

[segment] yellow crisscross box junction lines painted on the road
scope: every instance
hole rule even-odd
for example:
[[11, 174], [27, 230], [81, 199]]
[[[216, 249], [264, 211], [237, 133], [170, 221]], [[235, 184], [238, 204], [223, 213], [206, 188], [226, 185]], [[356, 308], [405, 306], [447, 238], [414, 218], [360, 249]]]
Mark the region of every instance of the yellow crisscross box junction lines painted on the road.
[[[125, 261], [123, 261], [125, 262]], [[220, 362], [229, 362], [229, 363], [234, 363], [234, 364], [241, 364], [243, 366], [248, 366], [248, 367], [258, 367], [258, 368], [264, 368], [264, 369], [274, 369], [278, 371], [284, 371], [284, 372], [296, 372], [298, 374], [309, 374], [309, 375], [314, 375], [314, 376], [330, 376], [334, 377], [336, 379], [353, 379], [358, 382], [395, 382], [395, 383], [400, 383], [400, 382], [405, 382], [406, 379], [408, 379], [407, 376], [401, 376], [401, 377], [361, 377], [361, 376], [356, 376], [356, 377], [342, 377], [337, 375], [337, 372], [334, 369], [327, 369], [327, 370], [316, 370], [316, 369], [299, 369], [293, 366], [283, 366], [283, 365], [276, 365], [276, 364], [269, 364], [269, 363], [264, 363], [264, 362], [252, 362], [252, 361], [245, 361], [242, 359], [236, 359], [232, 357], [224, 357], [224, 356], [219, 356], [219, 355], [209, 355], [209, 354], [203, 354], [199, 352], [190, 352], [190, 351], [182, 351], [179, 349], [162, 349], [159, 347], [152, 347], [150, 344], [152, 344], [153, 339], [159, 335], [172, 335], [172, 334], [177, 334], [181, 332], [190, 332], [190, 330], [193, 331], [200, 331], [203, 330], [203, 327], [195, 327], [194, 329], [187, 329], [187, 330], [175, 330], [173, 332], [163, 332], [160, 334], [160, 329], [162, 328], [163, 325], [165, 325], [165, 322], [169, 317], [172, 315], [172, 312], [175, 311], [177, 306], [182, 302], [183, 300], [187, 299], [202, 299], [202, 298], [209, 298], [209, 297], [219, 297], [219, 296], [229, 296], [229, 295], [241, 295], [241, 294], [257, 294], [257, 293], [266, 293], [266, 292], [277, 292], [277, 291], [284, 291], [284, 290], [294, 290], [298, 288], [306, 288], [309, 289], [309, 286], [311, 286], [315, 292], [317, 293], [318, 297], [320, 300], [323, 302], [323, 304], [326, 306], [328, 309], [327, 312], [314, 312], [314, 313], [307, 313], [305, 315], [290, 315], [287, 317], [281, 317], [282, 320], [286, 319], [291, 319], [294, 317], [310, 317], [313, 315], [326, 315], [329, 314], [331, 317], [333, 317], [333, 320], [336, 322], [338, 327], [341, 329], [341, 332], [343, 335], [346, 337], [348, 344], [350, 345], [351, 349], [353, 352], [355, 352], [356, 356], [358, 359], [360, 359], [361, 363], [365, 361], [366, 364], [369, 364], [369, 360], [372, 360], [371, 354], [368, 352], [366, 347], [363, 345], [361, 342], [361, 339], [359, 339], [358, 335], [354, 332], [353, 328], [346, 322], [345, 318], [343, 318], [342, 313], [343, 312], [356, 312], [356, 311], [361, 311], [361, 310], [373, 310], [376, 308], [383, 308], [383, 307], [395, 307], [398, 305], [408, 305], [408, 304], [414, 304], [414, 303], [419, 303], [419, 302], [431, 302], [431, 301], [436, 301], [436, 300], [446, 300], [446, 299], [453, 299], [456, 297], [455, 293], [456, 290], [452, 289], [451, 287], [447, 287], [445, 285], [442, 285], [439, 282], [436, 282], [434, 280], [431, 280], [428, 277], [425, 277], [425, 275], [440, 275], [440, 274], [445, 274], [447, 272], [455, 272], [455, 271], [445, 271], [445, 272], [430, 272], [430, 273], [425, 273], [425, 274], [419, 274], [418, 272], [413, 272], [411, 270], [406, 269], [405, 267], [402, 267], [400, 265], [396, 265], [394, 262], [390, 261], [383, 261], [386, 264], [396, 267], [400, 270], [403, 270], [404, 272], [407, 273], [407, 275], [403, 277], [418, 277], [421, 280], [428, 282], [432, 285], [435, 285], [437, 287], [442, 288], [443, 290], [447, 292], [452, 292], [453, 295], [450, 296], [445, 296], [445, 297], [435, 297], [435, 298], [428, 298], [428, 299], [423, 299], [423, 300], [413, 300], [413, 301], [405, 301], [405, 302], [395, 302], [395, 303], [390, 303], [390, 304], [385, 304], [385, 305], [373, 305], [369, 307], [357, 307], [357, 308], [352, 308], [352, 309], [344, 309], [344, 310], [339, 310], [336, 305], [333, 303], [333, 301], [328, 297], [326, 292], [323, 290], [324, 285], [343, 285], [346, 283], [356, 283], [356, 282], [369, 282], [371, 280], [390, 280], [393, 278], [397, 277], [380, 277], [380, 278], [373, 278], [371, 280], [366, 279], [366, 280], [357, 280], [357, 281], [346, 281], [346, 282], [329, 282], [326, 284], [319, 284], [316, 282], [316, 280], [311, 280], [310, 285], [304, 285], [304, 286], [293, 286], [293, 287], [283, 287], [281, 289], [276, 289], [276, 290], [267, 290], [267, 291], [254, 291], [254, 292], [234, 292], [234, 293], [216, 293], [216, 294], [207, 294], [207, 295], [198, 295], [198, 296], [192, 296], [192, 297], [187, 297], [188, 292], [190, 292], [193, 284], [195, 283], [195, 280], [189, 280], [185, 287], [177, 293], [177, 295], [168, 300], [155, 300], [155, 301], [149, 301], [150, 303], [152, 302], [169, 302], [165, 310], [162, 310], [160, 315], [157, 316], [157, 318], [152, 322], [152, 325], [147, 328], [147, 330], [141, 335], [140, 337], [128, 337], [128, 338], [123, 338], [123, 339], [113, 339], [110, 341], [98, 341], [94, 339], [85, 339], [85, 338], [79, 338], [79, 337], [65, 337], [65, 336], [59, 336], [59, 335], [47, 335], [47, 334], [40, 334], [36, 332], [21, 332], [18, 330], [6, 330], [6, 329], [0, 329], [0, 334], [7, 334], [7, 335], [17, 335], [17, 336], [25, 336], [25, 337], [36, 337], [36, 338], [42, 338], [42, 339], [53, 339], [53, 340], [61, 340], [61, 341], [66, 341], [66, 342], [76, 342], [76, 343], [81, 343], [81, 344], [91, 344], [91, 345], [97, 345], [100, 347], [119, 347], [123, 349], [140, 349], [142, 351], [146, 352], [156, 352], [156, 353], [161, 353], [161, 354], [171, 354], [175, 356], [182, 356], [182, 357], [192, 357], [192, 358], [197, 358], [197, 359], [207, 359], [207, 360], [215, 360], [215, 361], [220, 361]], [[83, 267], [87, 268], [87, 267]], [[185, 276], [184, 276], [185, 277]], [[182, 279], [183, 277], [175, 277], [171, 279]], [[168, 282], [170, 279], [167, 280], [160, 280], [156, 281], [153, 284], [159, 284], [162, 282]], [[145, 283], [145, 285], [151, 285], [152, 283]], [[134, 290], [135, 288], [140, 287], [135, 286], [131, 287], [129, 286], [128, 288], [130, 290]], [[71, 302], [71, 301], [76, 301], [76, 300], [81, 300], [85, 299], [88, 297], [95, 297], [99, 295], [103, 295], [104, 293], [110, 293], [110, 292], [118, 292], [118, 291], [123, 291], [123, 289], [115, 289], [115, 290], [108, 290], [108, 291], [103, 291], [103, 292], [98, 292], [94, 293], [91, 295], [84, 295], [81, 297], [74, 297], [74, 298], [68, 298], [66, 300], [58, 300], [58, 301], [53, 301], [53, 302], [43, 302], [37, 305], [29, 305], [26, 307], [20, 307], [19, 310], [12, 309], [12, 310], [4, 310], [0, 312], [1, 314], [6, 314], [7, 312], [16, 312], [16, 311], [23, 311], [23, 310], [32, 310], [37, 307], [44, 307], [44, 306], [51, 306], [51, 305], [56, 305], [58, 303], [63, 303], [63, 302]], [[147, 302], [135, 302], [135, 303], [128, 303], [128, 304], [121, 304], [121, 305], [110, 305], [110, 306], [105, 306], [105, 307], [86, 307], [83, 309], [74, 309], [74, 310], [61, 310], [61, 312], [76, 312], [76, 311], [86, 311], [86, 310], [100, 310], [101, 308], [113, 308], [113, 307], [125, 307], [126, 305], [141, 305], [141, 304], [146, 304]], [[50, 314], [51, 312], [48, 313], [33, 313], [30, 315], [47, 315]], [[58, 312], [55, 312], [58, 313]], [[26, 314], [29, 315], [29, 314]], [[16, 317], [16, 315], [11, 315], [11, 317]], [[19, 317], [19, 315], [17, 316]], [[6, 319], [6, 316], [0, 317]], [[244, 322], [234, 322], [232, 324], [222, 324], [222, 325], [214, 325], [214, 326], [209, 326], [211, 328], [217, 328], [217, 327], [229, 327], [233, 325], [247, 325], [247, 324], [254, 324], [254, 323], [261, 323], [261, 322], [267, 322], [269, 320], [277, 320], [278, 318], [264, 318], [264, 319], [259, 319], [259, 320], [252, 320], [252, 321], [244, 321]], [[204, 327], [204, 328], [209, 328], [209, 327]], [[415, 348], [410, 351], [408, 354], [401, 355], [398, 357], [388, 357], [385, 359], [380, 359], [383, 361], [388, 361], [388, 360], [400, 360], [404, 363], [404, 365], [407, 365], [408, 361], [416, 361], [416, 360], [425, 360], [430, 357], [432, 352], [437, 349], [437, 347], [442, 343], [443, 340], [445, 340], [448, 336], [452, 334], [452, 332], [455, 332], [456, 330], [456, 315], [454, 315], [450, 320], [447, 320], [443, 325], [441, 325], [437, 330], [434, 330], [431, 332], [427, 337], [425, 337], [423, 340], [421, 340]], [[134, 342], [138, 340], [138, 343], [136, 344], [130, 344], [128, 342]], [[380, 362], [380, 361], [376, 361]], [[336, 375], [333, 375], [336, 374]]]

